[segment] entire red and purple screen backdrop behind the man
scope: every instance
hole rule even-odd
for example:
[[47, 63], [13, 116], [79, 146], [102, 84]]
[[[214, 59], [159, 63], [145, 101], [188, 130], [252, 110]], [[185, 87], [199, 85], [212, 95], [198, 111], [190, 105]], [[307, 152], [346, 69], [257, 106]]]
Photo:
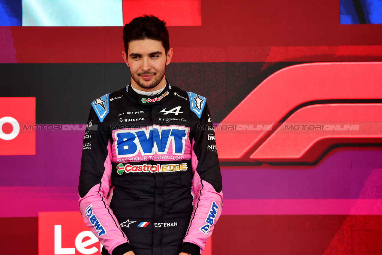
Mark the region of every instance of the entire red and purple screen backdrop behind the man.
[[3, 253], [99, 254], [77, 217], [86, 120], [129, 83], [143, 13], [168, 21], [170, 84], [209, 102], [225, 200], [204, 254], [382, 252], [380, 1], [359, 1], [374, 24], [357, 1], [93, 2], [0, 0]]

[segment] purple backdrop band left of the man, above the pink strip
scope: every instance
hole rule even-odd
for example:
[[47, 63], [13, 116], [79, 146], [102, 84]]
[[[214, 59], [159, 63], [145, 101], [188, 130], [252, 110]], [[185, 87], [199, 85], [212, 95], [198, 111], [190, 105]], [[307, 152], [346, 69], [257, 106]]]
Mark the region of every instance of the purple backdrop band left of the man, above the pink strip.
[[84, 132], [37, 130], [36, 155], [1, 157], [0, 186], [78, 186]]

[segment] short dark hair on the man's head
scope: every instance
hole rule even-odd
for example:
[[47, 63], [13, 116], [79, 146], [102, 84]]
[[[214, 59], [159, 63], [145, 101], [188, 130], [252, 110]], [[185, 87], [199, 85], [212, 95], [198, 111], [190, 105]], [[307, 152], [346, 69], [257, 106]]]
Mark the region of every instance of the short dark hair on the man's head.
[[126, 54], [129, 48], [129, 42], [144, 39], [160, 41], [163, 48], [165, 48], [166, 55], [168, 50], [170, 50], [166, 23], [164, 20], [160, 20], [153, 15], [143, 15], [134, 18], [123, 27], [123, 44], [125, 44]]

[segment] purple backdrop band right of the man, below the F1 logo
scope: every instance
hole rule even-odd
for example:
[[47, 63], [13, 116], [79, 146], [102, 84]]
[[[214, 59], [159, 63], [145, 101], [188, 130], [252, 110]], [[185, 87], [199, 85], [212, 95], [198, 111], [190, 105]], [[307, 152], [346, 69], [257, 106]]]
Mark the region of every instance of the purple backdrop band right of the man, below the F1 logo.
[[[223, 166], [224, 198], [357, 199], [381, 167], [380, 147], [337, 148], [314, 166]], [[364, 199], [382, 198], [382, 173], [373, 176]]]

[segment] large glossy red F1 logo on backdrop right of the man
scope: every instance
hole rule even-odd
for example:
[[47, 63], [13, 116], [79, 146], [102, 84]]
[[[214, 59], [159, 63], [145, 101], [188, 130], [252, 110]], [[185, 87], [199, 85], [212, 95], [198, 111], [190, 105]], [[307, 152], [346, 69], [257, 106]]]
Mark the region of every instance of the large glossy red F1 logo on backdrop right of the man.
[[265, 79], [215, 127], [222, 161], [314, 163], [382, 142], [382, 63], [309, 63]]

